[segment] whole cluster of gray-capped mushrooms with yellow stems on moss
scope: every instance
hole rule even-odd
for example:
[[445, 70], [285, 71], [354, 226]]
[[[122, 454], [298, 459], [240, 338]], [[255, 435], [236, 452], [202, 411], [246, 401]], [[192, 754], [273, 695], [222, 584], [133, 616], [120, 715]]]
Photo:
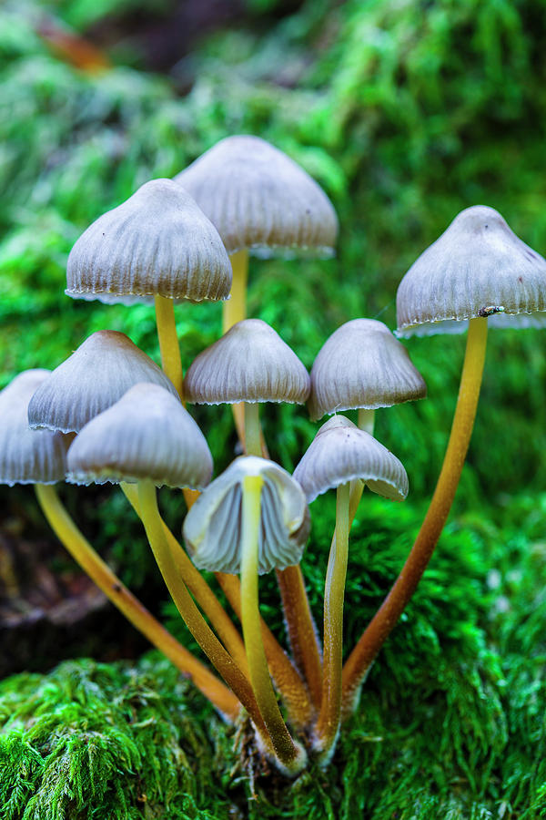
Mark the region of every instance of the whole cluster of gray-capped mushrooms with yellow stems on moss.
[[[162, 367], [124, 333], [103, 330], [53, 372], [19, 374], [0, 393], [0, 481], [35, 484], [45, 517], [81, 567], [228, 722], [241, 710], [248, 714], [258, 749], [287, 776], [301, 772], [309, 755], [328, 764], [370, 664], [429, 563], [469, 446], [489, 325], [546, 322], [546, 261], [497, 211], [475, 206], [400, 283], [396, 335], [376, 320], [352, 319], [323, 344], [308, 374], [274, 328], [247, 318], [248, 255], [328, 257], [337, 231], [328, 197], [295, 162], [257, 137], [224, 139], [174, 180], [151, 180], [100, 216], [68, 259], [69, 296], [155, 304]], [[184, 377], [174, 305], [215, 300], [224, 301], [223, 334]], [[404, 466], [374, 437], [375, 413], [427, 394], [396, 336], [466, 330], [460, 394], [430, 508], [399, 578], [343, 664], [349, 532], [364, 488], [390, 501], [409, 492]], [[307, 403], [315, 422], [330, 416], [293, 475], [268, 458], [258, 415], [265, 402]], [[244, 455], [214, 480], [206, 437], [186, 403], [233, 406]], [[346, 411], [356, 411], [356, 424]], [[63, 479], [121, 487], [177, 610], [215, 671], [99, 558], [56, 494]], [[186, 491], [185, 548], [159, 513], [162, 486]], [[320, 637], [300, 560], [308, 505], [333, 489]], [[259, 610], [258, 578], [273, 570], [289, 652]]]

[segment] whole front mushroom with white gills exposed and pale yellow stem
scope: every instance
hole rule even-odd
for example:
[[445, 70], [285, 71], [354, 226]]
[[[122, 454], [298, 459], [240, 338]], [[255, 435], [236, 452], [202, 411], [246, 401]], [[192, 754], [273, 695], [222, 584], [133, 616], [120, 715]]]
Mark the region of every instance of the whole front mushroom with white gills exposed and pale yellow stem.
[[258, 572], [298, 563], [308, 537], [308, 507], [286, 470], [241, 456], [189, 510], [184, 538], [200, 569], [241, 575], [241, 621], [250, 681], [277, 764], [297, 774], [306, 763], [278, 709], [268, 671], [258, 608]]

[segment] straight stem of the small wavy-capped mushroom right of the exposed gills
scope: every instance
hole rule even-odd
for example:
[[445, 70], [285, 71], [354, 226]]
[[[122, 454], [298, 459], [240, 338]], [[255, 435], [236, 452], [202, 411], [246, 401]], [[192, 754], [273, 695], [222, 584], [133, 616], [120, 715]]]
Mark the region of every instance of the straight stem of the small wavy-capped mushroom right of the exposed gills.
[[350, 481], [337, 489], [336, 537], [329, 553], [324, 588], [324, 672], [322, 704], [315, 729], [315, 749], [326, 765], [334, 752], [341, 714], [341, 667], [343, 652], [343, 599], [349, 558]]

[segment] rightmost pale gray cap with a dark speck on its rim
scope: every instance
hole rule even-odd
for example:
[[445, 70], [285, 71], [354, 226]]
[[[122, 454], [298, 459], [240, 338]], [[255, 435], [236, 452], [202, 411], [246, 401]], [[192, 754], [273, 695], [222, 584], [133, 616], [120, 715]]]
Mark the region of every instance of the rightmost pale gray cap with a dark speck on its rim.
[[489, 315], [491, 308], [503, 311], [490, 315], [490, 325], [543, 326], [546, 260], [498, 211], [475, 205], [455, 217], [400, 282], [397, 335], [462, 333], [462, 320]]

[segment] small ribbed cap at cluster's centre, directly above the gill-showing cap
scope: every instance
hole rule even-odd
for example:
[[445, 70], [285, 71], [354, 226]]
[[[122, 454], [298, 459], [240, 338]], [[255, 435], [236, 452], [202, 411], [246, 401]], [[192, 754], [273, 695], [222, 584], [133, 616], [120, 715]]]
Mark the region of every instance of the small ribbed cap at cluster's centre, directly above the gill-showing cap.
[[298, 356], [261, 319], [229, 328], [190, 364], [184, 381], [188, 402], [289, 402], [303, 404], [310, 380]]

